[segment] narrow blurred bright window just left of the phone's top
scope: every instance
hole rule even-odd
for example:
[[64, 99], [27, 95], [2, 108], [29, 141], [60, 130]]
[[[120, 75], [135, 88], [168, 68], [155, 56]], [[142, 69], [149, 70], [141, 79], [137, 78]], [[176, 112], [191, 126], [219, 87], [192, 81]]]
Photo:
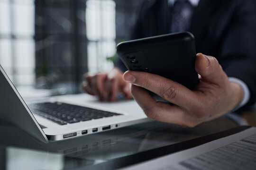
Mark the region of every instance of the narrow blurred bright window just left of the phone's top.
[[86, 32], [90, 72], [109, 70], [113, 63], [107, 58], [115, 55], [116, 29], [113, 0], [87, 0]]

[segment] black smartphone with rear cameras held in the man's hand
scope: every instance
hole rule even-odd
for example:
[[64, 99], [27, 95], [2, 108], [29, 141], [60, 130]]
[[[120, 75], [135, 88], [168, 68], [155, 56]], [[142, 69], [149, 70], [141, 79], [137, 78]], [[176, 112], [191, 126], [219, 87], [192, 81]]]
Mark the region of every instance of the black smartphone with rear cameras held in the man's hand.
[[[189, 32], [121, 42], [117, 45], [116, 52], [128, 70], [163, 76], [191, 90], [199, 83], [194, 68], [194, 36]], [[162, 101], [159, 96], [155, 95], [154, 98]]]

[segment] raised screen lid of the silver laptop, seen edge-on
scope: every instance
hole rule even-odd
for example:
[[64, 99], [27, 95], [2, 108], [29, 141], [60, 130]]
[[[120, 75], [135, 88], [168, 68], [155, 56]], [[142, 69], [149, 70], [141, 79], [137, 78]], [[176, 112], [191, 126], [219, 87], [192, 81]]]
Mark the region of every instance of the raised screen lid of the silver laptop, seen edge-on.
[[0, 117], [15, 124], [28, 134], [36, 137], [39, 141], [48, 143], [44, 131], [1, 65], [0, 71], [2, 73], [0, 74]]

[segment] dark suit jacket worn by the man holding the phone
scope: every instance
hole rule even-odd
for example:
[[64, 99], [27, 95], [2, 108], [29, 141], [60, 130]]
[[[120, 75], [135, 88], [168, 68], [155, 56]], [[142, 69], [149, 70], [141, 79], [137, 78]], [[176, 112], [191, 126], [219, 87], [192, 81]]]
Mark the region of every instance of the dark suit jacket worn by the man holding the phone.
[[[132, 30], [131, 39], [170, 33], [171, 12], [167, 0], [146, 0]], [[256, 0], [201, 0], [188, 30], [196, 51], [214, 56], [228, 76], [244, 81], [256, 96]], [[117, 66], [126, 68], [119, 60]]]

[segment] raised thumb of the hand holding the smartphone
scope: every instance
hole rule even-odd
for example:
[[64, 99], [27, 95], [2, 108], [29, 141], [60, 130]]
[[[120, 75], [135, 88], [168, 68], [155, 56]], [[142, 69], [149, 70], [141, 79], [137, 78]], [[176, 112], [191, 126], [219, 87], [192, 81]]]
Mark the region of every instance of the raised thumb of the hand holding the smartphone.
[[222, 84], [227, 75], [222, 70], [216, 58], [198, 53], [196, 55], [195, 70], [202, 81]]

